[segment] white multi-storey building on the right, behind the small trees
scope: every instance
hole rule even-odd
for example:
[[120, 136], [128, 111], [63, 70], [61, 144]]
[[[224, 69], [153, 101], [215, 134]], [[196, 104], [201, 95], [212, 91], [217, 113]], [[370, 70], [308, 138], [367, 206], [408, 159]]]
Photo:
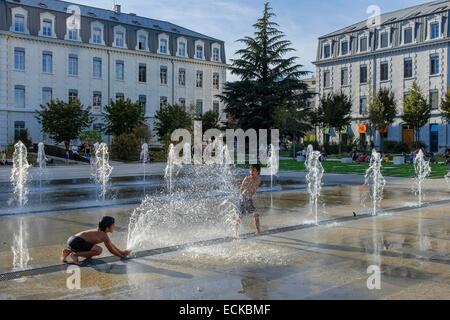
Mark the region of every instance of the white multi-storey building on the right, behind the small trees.
[[[450, 145], [450, 130], [439, 107], [449, 83], [449, 12], [450, 1], [435, 1], [319, 38], [317, 103], [330, 92], [349, 95], [353, 102], [351, 131], [359, 138], [360, 124], [367, 123], [370, 96], [389, 88], [395, 94], [399, 117], [388, 128], [386, 139], [411, 145], [413, 131], [400, 115], [404, 97], [416, 81], [432, 108], [428, 125], [421, 129], [421, 141], [429, 151], [444, 152]], [[363, 138], [368, 143], [369, 137]], [[377, 132], [376, 146], [379, 141]]]

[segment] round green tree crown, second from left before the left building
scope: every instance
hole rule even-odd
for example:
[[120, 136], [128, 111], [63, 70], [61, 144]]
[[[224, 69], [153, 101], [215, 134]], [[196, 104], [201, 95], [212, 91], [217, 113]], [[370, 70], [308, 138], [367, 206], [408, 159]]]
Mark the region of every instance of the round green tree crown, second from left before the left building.
[[131, 133], [145, 124], [144, 112], [139, 102], [127, 100], [111, 101], [105, 107], [105, 132], [113, 136]]

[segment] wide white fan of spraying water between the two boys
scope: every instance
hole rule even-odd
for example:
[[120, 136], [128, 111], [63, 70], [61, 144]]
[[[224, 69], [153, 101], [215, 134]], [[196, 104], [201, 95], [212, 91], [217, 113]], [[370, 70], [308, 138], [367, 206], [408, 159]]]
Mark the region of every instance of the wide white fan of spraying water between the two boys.
[[[210, 237], [237, 237], [239, 188], [225, 162], [229, 157], [222, 146], [210, 159], [215, 163], [183, 166], [171, 145], [165, 172], [168, 190], [147, 196], [134, 210], [128, 226], [127, 248], [136, 251]], [[217, 164], [217, 159], [222, 159], [222, 165]], [[189, 187], [174, 188], [174, 179], [180, 180], [180, 186]]]

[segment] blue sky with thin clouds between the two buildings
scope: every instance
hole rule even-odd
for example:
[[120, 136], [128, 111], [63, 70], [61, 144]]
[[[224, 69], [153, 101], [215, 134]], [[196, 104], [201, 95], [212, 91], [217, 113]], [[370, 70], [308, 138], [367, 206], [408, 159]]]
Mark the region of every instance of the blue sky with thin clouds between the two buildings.
[[[73, 0], [79, 4], [111, 9], [113, 0]], [[227, 62], [241, 47], [236, 40], [253, 35], [253, 24], [261, 17], [265, 0], [116, 0], [122, 11], [169, 21], [225, 41]], [[297, 51], [298, 63], [314, 72], [317, 39], [332, 31], [366, 20], [371, 5], [381, 13], [417, 4], [423, 0], [272, 0], [280, 30]], [[228, 80], [236, 80], [229, 75]]]

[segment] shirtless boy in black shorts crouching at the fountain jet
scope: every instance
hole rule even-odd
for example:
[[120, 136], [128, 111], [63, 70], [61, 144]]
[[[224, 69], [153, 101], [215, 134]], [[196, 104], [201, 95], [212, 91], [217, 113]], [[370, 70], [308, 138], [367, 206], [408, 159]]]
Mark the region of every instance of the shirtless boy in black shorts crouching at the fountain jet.
[[114, 218], [103, 217], [102, 221], [98, 224], [98, 230], [83, 231], [70, 237], [67, 241], [67, 247], [61, 252], [61, 261], [63, 263], [69, 263], [67, 258], [70, 258], [73, 264], [79, 265], [80, 257], [89, 260], [101, 255], [103, 252], [102, 247], [99, 246], [101, 243], [104, 243], [113, 255], [119, 258], [127, 257], [131, 251], [120, 250], [108, 237], [108, 233], [112, 233], [115, 227]]

